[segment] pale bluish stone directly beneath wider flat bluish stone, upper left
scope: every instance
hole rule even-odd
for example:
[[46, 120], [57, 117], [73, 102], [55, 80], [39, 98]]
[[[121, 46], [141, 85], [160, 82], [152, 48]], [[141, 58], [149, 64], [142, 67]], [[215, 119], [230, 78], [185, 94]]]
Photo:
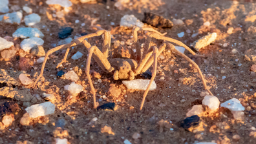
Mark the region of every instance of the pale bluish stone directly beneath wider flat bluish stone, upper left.
[[33, 48], [36, 45], [43, 45], [45, 41], [43, 41], [43, 39], [39, 38], [39, 37], [31, 37], [28, 39], [24, 39], [23, 41], [21, 41], [21, 48], [25, 51], [25, 52], [30, 52], [30, 49]]

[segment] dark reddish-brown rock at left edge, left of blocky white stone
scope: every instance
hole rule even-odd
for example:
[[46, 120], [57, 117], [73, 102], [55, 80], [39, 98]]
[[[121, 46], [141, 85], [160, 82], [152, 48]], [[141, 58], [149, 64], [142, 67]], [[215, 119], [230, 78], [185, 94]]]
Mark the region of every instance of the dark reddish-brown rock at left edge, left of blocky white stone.
[[19, 112], [19, 110], [21, 109], [17, 103], [14, 101], [7, 101], [0, 105], [0, 116], [3, 116], [4, 114], [15, 114], [16, 112]]

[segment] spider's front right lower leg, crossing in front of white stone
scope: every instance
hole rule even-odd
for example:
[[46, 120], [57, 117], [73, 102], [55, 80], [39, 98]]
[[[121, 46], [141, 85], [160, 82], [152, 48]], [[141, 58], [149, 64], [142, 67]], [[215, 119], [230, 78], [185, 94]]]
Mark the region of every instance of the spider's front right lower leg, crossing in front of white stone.
[[147, 93], [149, 92], [149, 88], [151, 87], [151, 84], [153, 83], [155, 77], [156, 77], [156, 68], [157, 68], [157, 53], [158, 53], [158, 48], [156, 46], [153, 46], [153, 56], [154, 56], [154, 64], [153, 64], [153, 72], [152, 72], [152, 77], [149, 81], [149, 85], [147, 86], [147, 89], [144, 92], [143, 98], [142, 98], [142, 104], [140, 105], [140, 110], [142, 110], [143, 105], [145, 103], [145, 98], [147, 96]]

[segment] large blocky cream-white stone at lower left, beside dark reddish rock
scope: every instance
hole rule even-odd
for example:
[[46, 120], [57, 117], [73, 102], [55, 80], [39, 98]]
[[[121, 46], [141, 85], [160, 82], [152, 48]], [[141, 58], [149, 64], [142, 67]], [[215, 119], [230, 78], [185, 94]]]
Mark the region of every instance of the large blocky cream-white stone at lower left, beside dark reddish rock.
[[55, 105], [48, 101], [45, 103], [32, 105], [25, 108], [25, 110], [28, 112], [30, 118], [37, 118], [39, 116], [53, 114], [55, 111]]

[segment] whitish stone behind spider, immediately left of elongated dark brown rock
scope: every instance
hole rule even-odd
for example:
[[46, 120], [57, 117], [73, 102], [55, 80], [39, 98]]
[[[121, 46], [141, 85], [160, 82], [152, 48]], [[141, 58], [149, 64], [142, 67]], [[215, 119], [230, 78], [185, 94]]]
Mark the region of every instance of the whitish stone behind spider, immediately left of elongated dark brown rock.
[[144, 23], [142, 23], [134, 15], [124, 15], [121, 18], [120, 26], [125, 26], [125, 27], [129, 27], [129, 28], [133, 28], [134, 26], [138, 26], [138, 27], [142, 28], [144, 26]]

